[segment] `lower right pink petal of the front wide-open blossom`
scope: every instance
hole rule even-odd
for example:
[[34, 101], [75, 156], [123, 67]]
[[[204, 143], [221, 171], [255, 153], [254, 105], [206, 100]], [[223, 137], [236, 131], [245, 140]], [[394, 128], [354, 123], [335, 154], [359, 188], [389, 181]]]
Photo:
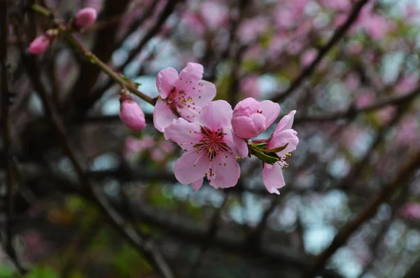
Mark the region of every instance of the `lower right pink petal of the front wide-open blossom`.
[[219, 154], [212, 163], [214, 176], [207, 175], [209, 183], [214, 188], [229, 188], [236, 186], [241, 168], [234, 154]]

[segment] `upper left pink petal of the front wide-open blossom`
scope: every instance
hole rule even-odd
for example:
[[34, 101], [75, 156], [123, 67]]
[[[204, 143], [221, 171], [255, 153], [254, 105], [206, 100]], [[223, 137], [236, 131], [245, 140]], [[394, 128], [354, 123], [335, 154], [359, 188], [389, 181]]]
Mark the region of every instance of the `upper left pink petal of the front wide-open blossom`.
[[193, 148], [202, 139], [200, 125], [188, 123], [183, 118], [174, 120], [173, 123], [165, 128], [163, 134], [165, 135], [165, 139], [174, 141], [183, 150]]

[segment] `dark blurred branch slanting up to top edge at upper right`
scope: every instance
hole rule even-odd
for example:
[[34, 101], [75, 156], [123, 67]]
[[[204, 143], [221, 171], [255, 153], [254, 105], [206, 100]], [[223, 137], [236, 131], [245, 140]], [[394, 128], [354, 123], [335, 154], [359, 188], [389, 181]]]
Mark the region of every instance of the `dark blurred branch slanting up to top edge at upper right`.
[[351, 11], [349, 18], [347, 18], [346, 22], [344, 22], [342, 26], [338, 27], [338, 29], [332, 35], [330, 41], [328, 41], [328, 43], [325, 44], [325, 46], [323, 46], [318, 51], [318, 55], [316, 55], [315, 60], [300, 72], [299, 76], [297, 76], [297, 78], [293, 80], [293, 82], [290, 84], [290, 87], [285, 92], [272, 97], [271, 100], [273, 102], [281, 102], [283, 99], [288, 97], [288, 95], [290, 95], [294, 90], [299, 88], [306, 78], [311, 76], [311, 74], [315, 71], [316, 67], [318, 66], [319, 62], [323, 60], [323, 57], [325, 57], [325, 55], [327, 55], [327, 53], [332, 49], [332, 47], [335, 46], [335, 44], [340, 39], [342, 39], [344, 34], [346, 34], [347, 30], [351, 27], [351, 25], [353, 25], [353, 22], [357, 20], [358, 14], [362, 10], [363, 6], [365, 6], [367, 1], [369, 0], [358, 1], [358, 3], [353, 7], [353, 10]]

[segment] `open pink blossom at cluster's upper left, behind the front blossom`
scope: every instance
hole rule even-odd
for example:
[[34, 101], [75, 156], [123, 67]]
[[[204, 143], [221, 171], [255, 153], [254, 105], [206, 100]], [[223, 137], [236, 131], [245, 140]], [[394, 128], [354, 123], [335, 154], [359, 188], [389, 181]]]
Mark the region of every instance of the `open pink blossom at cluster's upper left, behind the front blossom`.
[[179, 117], [192, 122], [214, 99], [216, 86], [202, 77], [203, 66], [196, 63], [188, 63], [179, 75], [172, 68], [159, 72], [156, 78], [159, 98], [153, 111], [153, 124], [157, 130], [163, 132]]

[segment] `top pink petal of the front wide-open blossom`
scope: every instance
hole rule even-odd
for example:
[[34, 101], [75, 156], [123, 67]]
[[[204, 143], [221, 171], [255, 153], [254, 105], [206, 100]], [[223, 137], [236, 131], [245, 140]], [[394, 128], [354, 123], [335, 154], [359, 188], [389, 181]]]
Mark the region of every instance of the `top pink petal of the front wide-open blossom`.
[[230, 120], [232, 119], [232, 106], [224, 100], [216, 100], [210, 102], [209, 105], [204, 107], [200, 117], [195, 120], [195, 123], [215, 131], [218, 128], [224, 128], [230, 130], [232, 125]]

